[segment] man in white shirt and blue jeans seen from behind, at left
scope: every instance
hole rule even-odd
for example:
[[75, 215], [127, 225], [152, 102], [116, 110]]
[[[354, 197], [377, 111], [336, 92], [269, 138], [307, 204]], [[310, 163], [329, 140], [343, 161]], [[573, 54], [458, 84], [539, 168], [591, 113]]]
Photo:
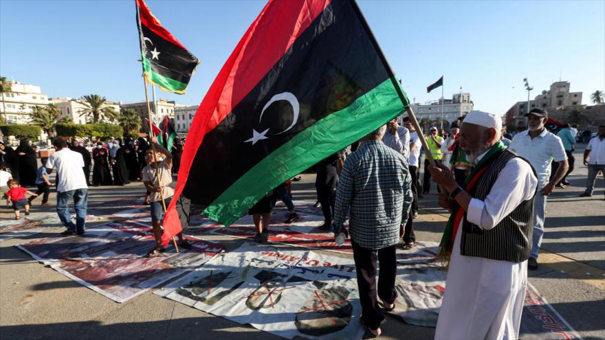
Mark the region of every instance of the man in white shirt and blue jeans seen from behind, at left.
[[[61, 138], [56, 139], [53, 145], [56, 152], [48, 157], [46, 170], [49, 174], [52, 168], [57, 171], [57, 214], [67, 228], [61, 235], [83, 235], [88, 207], [88, 186], [82, 171], [84, 159], [78, 152], [69, 150], [67, 142]], [[69, 217], [69, 199], [74, 199], [75, 225]]]

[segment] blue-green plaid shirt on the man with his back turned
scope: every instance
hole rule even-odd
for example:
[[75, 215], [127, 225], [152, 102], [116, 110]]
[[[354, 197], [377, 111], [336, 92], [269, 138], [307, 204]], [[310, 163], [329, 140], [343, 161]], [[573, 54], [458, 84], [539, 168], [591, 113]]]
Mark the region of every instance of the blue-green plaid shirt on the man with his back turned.
[[396, 245], [410, 213], [411, 185], [403, 155], [380, 140], [362, 142], [340, 173], [332, 231], [340, 231], [350, 209], [351, 240], [366, 249]]

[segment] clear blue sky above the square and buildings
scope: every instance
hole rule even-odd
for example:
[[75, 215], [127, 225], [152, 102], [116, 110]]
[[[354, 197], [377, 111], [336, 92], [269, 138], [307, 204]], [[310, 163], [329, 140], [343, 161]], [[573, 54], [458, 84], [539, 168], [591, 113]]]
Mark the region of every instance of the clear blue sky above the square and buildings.
[[[187, 93], [157, 98], [197, 105], [266, 1], [156, 1], [148, 6], [201, 60]], [[443, 75], [445, 98], [471, 93], [474, 108], [504, 114], [554, 81], [605, 90], [605, 1], [358, 1], [404, 90]], [[144, 101], [133, 0], [0, 0], [0, 75], [42, 87], [51, 98], [96, 93]]]

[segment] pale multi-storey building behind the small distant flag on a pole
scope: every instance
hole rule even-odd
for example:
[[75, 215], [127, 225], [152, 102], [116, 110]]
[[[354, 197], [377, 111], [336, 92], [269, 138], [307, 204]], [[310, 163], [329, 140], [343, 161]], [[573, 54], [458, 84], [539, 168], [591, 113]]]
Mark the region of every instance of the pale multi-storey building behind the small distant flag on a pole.
[[[441, 115], [441, 101], [443, 101], [443, 115]], [[441, 98], [437, 102], [430, 104], [412, 104], [417, 120], [428, 119], [438, 120], [443, 119], [450, 124], [456, 121], [456, 118], [465, 115], [473, 110], [473, 102], [470, 100], [470, 93], [456, 93], [452, 95], [452, 99]], [[404, 114], [405, 116], [406, 114]], [[443, 126], [447, 129], [448, 126]]]

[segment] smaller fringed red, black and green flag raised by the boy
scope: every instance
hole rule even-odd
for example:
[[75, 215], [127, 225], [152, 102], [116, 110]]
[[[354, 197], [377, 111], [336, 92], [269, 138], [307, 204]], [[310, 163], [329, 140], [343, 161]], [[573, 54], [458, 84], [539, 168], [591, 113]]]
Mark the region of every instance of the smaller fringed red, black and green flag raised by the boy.
[[162, 27], [145, 1], [135, 4], [145, 79], [164, 91], [185, 93], [199, 60]]

